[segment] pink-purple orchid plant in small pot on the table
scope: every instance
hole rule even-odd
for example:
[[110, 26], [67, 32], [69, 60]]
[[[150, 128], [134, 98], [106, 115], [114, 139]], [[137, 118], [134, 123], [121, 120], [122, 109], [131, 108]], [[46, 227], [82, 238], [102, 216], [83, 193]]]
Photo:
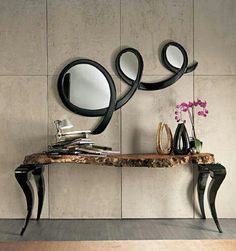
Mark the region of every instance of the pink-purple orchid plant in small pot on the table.
[[198, 116], [206, 117], [208, 115], [209, 111], [207, 110], [207, 102], [200, 99], [197, 99], [197, 101], [182, 102], [176, 106], [175, 110], [175, 120], [178, 123], [186, 123], [186, 120], [183, 118], [183, 113], [188, 113], [189, 121], [192, 127], [192, 137], [190, 138], [191, 153], [199, 153], [202, 149], [202, 141], [197, 138], [194, 126], [194, 113], [197, 108], [200, 108], [197, 111]]

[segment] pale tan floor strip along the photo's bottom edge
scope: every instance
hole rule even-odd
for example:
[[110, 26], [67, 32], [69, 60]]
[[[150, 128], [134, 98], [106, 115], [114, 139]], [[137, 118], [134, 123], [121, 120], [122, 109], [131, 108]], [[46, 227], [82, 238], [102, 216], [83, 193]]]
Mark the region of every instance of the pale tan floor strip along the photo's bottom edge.
[[236, 240], [18, 241], [0, 243], [1, 251], [235, 251]]

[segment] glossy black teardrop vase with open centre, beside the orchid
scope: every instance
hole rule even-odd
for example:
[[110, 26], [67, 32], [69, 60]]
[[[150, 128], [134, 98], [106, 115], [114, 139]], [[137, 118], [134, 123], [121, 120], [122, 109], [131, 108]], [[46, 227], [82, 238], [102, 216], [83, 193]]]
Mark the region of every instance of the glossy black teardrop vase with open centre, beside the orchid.
[[189, 137], [185, 124], [178, 124], [174, 135], [173, 152], [176, 155], [186, 155], [189, 151]]

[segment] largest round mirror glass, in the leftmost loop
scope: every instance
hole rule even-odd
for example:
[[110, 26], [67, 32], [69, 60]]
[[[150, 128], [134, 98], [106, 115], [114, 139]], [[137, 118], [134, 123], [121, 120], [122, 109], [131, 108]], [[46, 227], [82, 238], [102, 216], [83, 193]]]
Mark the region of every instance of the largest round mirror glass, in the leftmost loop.
[[64, 78], [67, 98], [83, 109], [102, 109], [109, 106], [110, 87], [104, 74], [90, 64], [71, 67]]

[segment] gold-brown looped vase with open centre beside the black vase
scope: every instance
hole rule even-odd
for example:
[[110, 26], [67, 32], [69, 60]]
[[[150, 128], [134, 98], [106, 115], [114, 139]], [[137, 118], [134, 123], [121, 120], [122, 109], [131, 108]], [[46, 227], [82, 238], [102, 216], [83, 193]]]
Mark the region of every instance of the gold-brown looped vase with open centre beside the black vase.
[[[163, 143], [164, 132], [166, 134], [166, 142]], [[164, 146], [163, 146], [164, 145]], [[159, 154], [170, 154], [173, 146], [173, 137], [169, 126], [160, 122], [157, 128], [157, 152]]]

